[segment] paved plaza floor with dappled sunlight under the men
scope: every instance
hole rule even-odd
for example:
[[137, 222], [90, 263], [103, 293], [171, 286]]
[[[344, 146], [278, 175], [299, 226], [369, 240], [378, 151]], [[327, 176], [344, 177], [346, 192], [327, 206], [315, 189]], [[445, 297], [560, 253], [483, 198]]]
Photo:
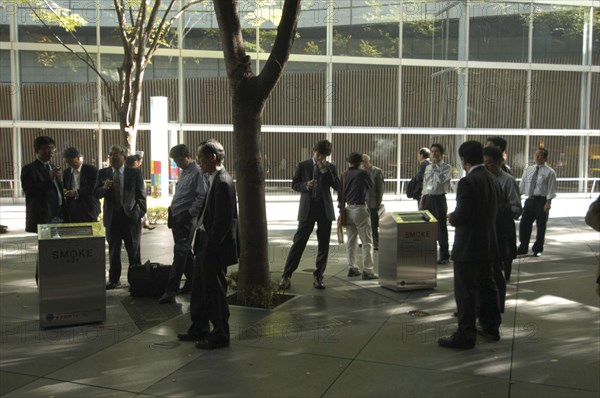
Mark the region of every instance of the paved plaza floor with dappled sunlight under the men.
[[[326, 289], [316, 290], [314, 233], [292, 278], [293, 299], [274, 310], [231, 306], [229, 348], [202, 351], [177, 341], [190, 323], [189, 296], [159, 305], [126, 288], [107, 292], [102, 324], [40, 329], [36, 237], [24, 232], [24, 206], [5, 203], [0, 395], [597, 398], [600, 243], [583, 221], [591, 201], [553, 201], [543, 255], [515, 260], [501, 340], [479, 339], [465, 351], [436, 343], [456, 324], [451, 264], [438, 266], [435, 289], [395, 292], [348, 278], [345, 248], [332, 236]], [[412, 200], [385, 204], [390, 211], [416, 207]], [[277, 280], [297, 226], [297, 197], [270, 199], [267, 208]], [[144, 230], [142, 258], [168, 264], [171, 257], [170, 230]]]

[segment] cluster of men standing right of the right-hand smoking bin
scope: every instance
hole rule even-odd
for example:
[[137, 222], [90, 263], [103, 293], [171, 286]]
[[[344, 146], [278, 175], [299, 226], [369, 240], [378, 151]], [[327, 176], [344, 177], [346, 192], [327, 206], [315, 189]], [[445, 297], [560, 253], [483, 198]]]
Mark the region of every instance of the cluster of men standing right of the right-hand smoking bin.
[[[438, 220], [440, 256], [438, 264], [451, 258], [454, 263], [454, 294], [458, 329], [438, 343], [448, 348], [472, 348], [476, 334], [493, 341], [500, 339], [506, 281], [517, 254], [527, 254], [533, 221], [537, 236], [534, 256], [544, 248], [544, 236], [551, 201], [556, 196], [556, 173], [546, 165], [548, 151], [535, 151], [535, 165], [527, 167], [517, 185], [504, 163], [506, 140], [490, 137], [486, 147], [478, 141], [463, 143], [458, 154], [467, 175], [456, 189], [456, 209], [447, 214], [445, 194], [450, 191], [451, 168], [444, 163], [444, 148], [433, 144], [419, 152], [416, 176], [422, 181], [419, 209], [429, 210]], [[521, 195], [527, 195], [524, 210]], [[514, 220], [523, 214], [516, 248]], [[447, 223], [455, 227], [452, 255], [448, 251]], [[479, 319], [479, 328], [476, 321]]]

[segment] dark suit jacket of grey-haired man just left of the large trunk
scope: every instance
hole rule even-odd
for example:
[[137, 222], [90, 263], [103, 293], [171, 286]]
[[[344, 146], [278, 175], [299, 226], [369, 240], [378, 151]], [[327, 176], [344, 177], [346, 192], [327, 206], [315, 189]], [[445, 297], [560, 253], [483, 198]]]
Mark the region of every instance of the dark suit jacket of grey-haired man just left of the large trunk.
[[202, 225], [207, 244], [204, 253], [206, 264], [226, 267], [238, 263], [239, 230], [237, 199], [233, 179], [221, 168], [209, 188]]

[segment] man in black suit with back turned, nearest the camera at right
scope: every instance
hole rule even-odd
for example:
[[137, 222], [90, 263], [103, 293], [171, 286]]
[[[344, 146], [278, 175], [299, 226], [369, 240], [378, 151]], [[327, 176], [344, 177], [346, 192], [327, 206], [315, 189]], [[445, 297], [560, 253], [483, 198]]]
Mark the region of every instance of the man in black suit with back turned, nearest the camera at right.
[[[483, 166], [483, 146], [467, 141], [458, 149], [467, 176], [458, 182], [456, 209], [448, 215], [456, 228], [454, 261], [454, 298], [458, 310], [458, 330], [441, 337], [438, 344], [447, 348], [473, 348], [476, 333], [500, 340], [498, 290], [492, 262], [498, 259], [496, 214], [502, 190], [496, 177]], [[479, 311], [481, 329], [475, 328]]]

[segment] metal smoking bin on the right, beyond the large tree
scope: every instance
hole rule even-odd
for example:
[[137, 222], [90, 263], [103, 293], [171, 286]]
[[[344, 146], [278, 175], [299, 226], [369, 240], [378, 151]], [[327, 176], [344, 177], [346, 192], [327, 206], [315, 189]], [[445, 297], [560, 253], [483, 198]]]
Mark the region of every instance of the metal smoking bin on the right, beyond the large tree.
[[379, 284], [395, 291], [435, 288], [437, 231], [427, 210], [385, 213], [379, 222]]

